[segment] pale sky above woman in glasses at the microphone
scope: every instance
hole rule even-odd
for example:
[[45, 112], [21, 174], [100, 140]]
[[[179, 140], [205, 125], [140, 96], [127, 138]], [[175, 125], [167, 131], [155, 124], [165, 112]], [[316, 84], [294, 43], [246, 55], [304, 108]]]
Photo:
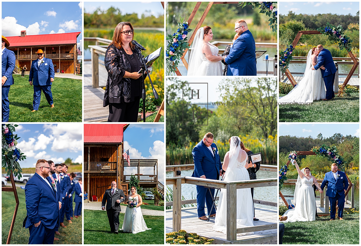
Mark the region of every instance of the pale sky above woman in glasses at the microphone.
[[[163, 7], [160, 2], [85, 2], [84, 13], [93, 13], [97, 8], [107, 10], [111, 6], [119, 8], [122, 14], [137, 13], [138, 17], [144, 14], [153, 14], [160, 16], [164, 14]], [[146, 13], [147, 11], [147, 13]]]

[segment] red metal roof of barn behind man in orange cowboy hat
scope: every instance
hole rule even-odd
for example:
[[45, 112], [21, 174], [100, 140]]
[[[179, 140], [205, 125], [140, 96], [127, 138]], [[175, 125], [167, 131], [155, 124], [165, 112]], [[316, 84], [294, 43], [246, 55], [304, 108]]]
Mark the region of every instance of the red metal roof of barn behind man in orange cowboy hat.
[[6, 37], [11, 47], [76, 44], [80, 32]]

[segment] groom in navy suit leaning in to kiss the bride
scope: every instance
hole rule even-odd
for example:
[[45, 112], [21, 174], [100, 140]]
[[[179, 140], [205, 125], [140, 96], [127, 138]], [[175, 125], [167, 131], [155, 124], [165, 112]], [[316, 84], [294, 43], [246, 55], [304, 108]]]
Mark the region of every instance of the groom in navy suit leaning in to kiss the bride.
[[[326, 86], [326, 99], [322, 99], [323, 101], [331, 100], [335, 97], [334, 89], [332, 88], [335, 81], [336, 74], [336, 66], [334, 60], [332, 59], [332, 55], [330, 50], [324, 49], [321, 44], [317, 45], [317, 49], [319, 50], [318, 62], [312, 67], [312, 70], [319, 69], [322, 65], [325, 67], [325, 70], [321, 69], [321, 74], [323, 81]], [[338, 79], [337, 79], [338, 83]]]

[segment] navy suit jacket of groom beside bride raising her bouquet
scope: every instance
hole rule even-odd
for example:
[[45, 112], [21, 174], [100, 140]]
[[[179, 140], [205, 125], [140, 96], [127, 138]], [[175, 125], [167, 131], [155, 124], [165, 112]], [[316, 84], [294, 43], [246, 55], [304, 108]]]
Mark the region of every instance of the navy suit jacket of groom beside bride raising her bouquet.
[[335, 180], [334, 175], [331, 172], [326, 172], [325, 177], [323, 178], [321, 189], [325, 188], [327, 184], [326, 196], [335, 197], [336, 193], [340, 196], [345, 194], [345, 190], [348, 188], [348, 180], [344, 172], [338, 171], [340, 175], [337, 180]]

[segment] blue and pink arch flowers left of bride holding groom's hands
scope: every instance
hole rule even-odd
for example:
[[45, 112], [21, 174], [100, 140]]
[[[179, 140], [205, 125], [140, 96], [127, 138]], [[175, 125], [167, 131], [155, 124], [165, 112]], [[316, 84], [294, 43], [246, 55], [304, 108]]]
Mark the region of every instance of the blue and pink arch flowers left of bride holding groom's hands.
[[165, 53], [165, 60], [167, 71], [169, 73], [175, 72], [178, 66], [178, 62], [183, 56], [184, 50], [189, 49], [190, 46], [187, 42], [188, 32], [192, 29], [188, 28], [188, 22], [184, 21], [184, 17], [181, 19], [181, 22], [178, 23], [178, 30], [174, 34], [169, 34], [166, 40], [168, 40], [168, 45]]

